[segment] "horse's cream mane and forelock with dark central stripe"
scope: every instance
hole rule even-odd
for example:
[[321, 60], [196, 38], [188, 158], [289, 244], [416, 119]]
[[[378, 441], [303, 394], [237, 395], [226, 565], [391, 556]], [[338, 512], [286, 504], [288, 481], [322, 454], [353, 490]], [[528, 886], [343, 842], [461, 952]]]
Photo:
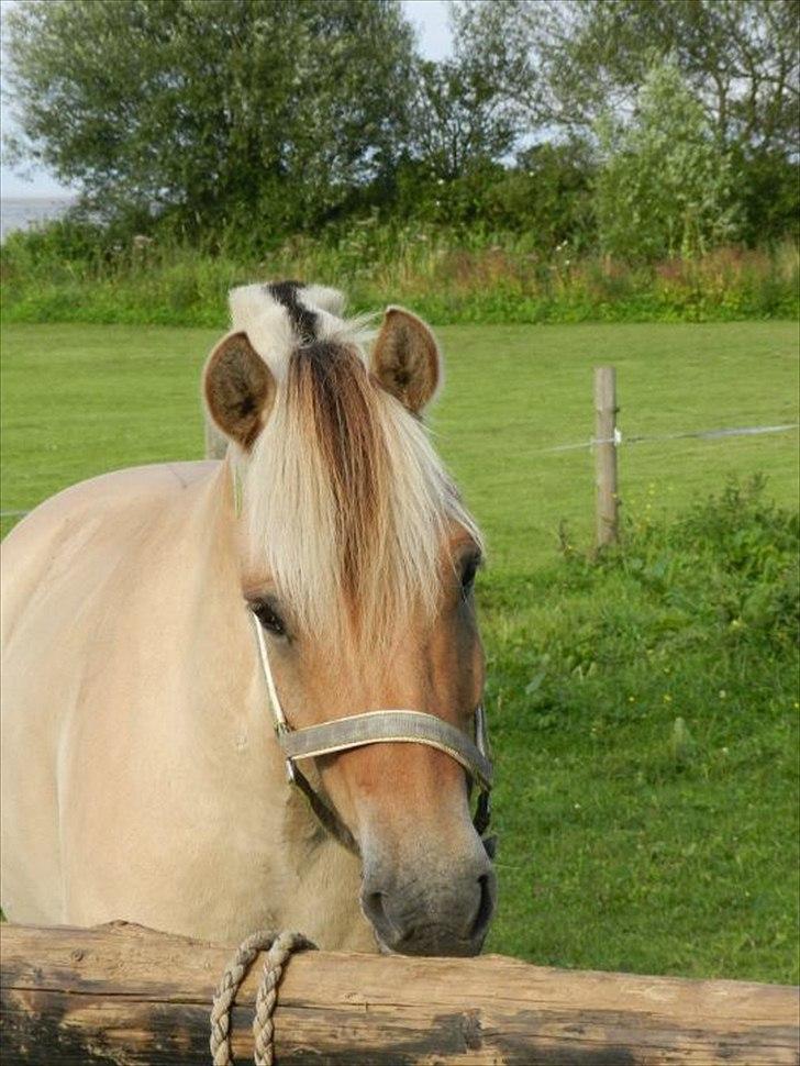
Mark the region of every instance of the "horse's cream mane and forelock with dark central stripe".
[[386, 646], [412, 614], [432, 617], [451, 523], [481, 537], [422, 422], [369, 374], [364, 320], [325, 312], [309, 291], [333, 290], [278, 289], [288, 332], [286, 321], [273, 331], [277, 346], [263, 332], [257, 348], [279, 384], [240, 457], [246, 544], [302, 631]]

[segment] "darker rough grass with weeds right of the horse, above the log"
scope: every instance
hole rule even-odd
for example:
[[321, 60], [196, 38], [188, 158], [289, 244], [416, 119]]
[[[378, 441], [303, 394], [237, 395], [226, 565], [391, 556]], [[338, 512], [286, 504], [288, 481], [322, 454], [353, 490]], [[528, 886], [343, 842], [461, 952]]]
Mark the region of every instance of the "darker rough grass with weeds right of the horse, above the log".
[[614, 551], [565, 534], [546, 573], [490, 571], [479, 590], [501, 843], [490, 946], [795, 981], [798, 517], [763, 479], [651, 513]]

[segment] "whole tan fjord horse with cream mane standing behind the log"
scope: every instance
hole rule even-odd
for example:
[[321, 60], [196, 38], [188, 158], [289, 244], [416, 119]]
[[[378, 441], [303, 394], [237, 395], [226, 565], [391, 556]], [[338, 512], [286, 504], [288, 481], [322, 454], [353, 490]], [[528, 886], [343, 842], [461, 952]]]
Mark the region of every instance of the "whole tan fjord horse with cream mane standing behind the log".
[[286, 782], [251, 624], [293, 726], [412, 708], [471, 730], [480, 537], [421, 420], [436, 345], [390, 308], [367, 354], [341, 296], [297, 282], [231, 307], [203, 377], [225, 460], [86, 481], [4, 545], [2, 906], [473, 954], [495, 878], [463, 768], [405, 743], [307, 764], [351, 853]]

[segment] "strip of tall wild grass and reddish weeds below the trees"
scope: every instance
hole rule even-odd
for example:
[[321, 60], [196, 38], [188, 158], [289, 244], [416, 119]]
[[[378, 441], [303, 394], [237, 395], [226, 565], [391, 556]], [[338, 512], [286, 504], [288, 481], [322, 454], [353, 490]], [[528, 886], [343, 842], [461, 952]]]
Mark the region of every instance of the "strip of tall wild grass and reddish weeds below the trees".
[[254, 260], [156, 236], [115, 240], [69, 220], [12, 233], [2, 246], [7, 322], [222, 327], [237, 284], [279, 277], [335, 281], [356, 310], [408, 302], [438, 324], [740, 321], [798, 315], [798, 249], [719, 248], [632, 266], [543, 253], [529, 233], [486, 233], [375, 220], [321, 240], [295, 237]]

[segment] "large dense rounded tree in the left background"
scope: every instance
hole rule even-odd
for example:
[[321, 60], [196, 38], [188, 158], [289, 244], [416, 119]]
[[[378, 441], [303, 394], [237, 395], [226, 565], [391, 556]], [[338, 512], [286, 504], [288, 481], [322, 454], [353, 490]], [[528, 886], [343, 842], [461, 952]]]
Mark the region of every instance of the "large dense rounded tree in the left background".
[[23, 0], [16, 157], [104, 213], [190, 231], [318, 225], [391, 171], [413, 34], [390, 0]]

